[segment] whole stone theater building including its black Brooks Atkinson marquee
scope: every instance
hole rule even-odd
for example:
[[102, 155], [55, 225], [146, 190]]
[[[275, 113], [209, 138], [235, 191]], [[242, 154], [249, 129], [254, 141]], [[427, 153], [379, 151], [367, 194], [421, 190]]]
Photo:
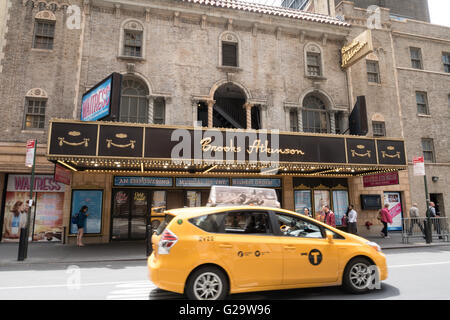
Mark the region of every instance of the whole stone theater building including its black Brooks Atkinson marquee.
[[[88, 243], [143, 239], [152, 217], [205, 205], [212, 185], [273, 188], [283, 208], [299, 212], [328, 204], [341, 217], [353, 204], [363, 236], [379, 234], [377, 211], [388, 202], [398, 230], [412, 202], [424, 208], [423, 179], [412, 170], [421, 141], [438, 151], [427, 144], [437, 159], [426, 164], [429, 180], [440, 177], [430, 193], [441, 208], [448, 198], [448, 139], [439, 138], [446, 29], [381, 9], [368, 30], [366, 10], [347, 1], [326, 14], [238, 0], [7, 3], [2, 235], [12, 212], [26, 210], [28, 139], [38, 141], [36, 241], [74, 243], [70, 216], [86, 201]], [[430, 70], [409, 66], [409, 48], [420, 46]], [[114, 106], [96, 119], [108, 83]], [[431, 115], [410, 110], [424, 109], [415, 100], [424, 83], [433, 83]], [[101, 94], [84, 99], [96, 88]], [[349, 135], [359, 96], [368, 130]]]

